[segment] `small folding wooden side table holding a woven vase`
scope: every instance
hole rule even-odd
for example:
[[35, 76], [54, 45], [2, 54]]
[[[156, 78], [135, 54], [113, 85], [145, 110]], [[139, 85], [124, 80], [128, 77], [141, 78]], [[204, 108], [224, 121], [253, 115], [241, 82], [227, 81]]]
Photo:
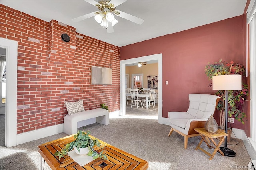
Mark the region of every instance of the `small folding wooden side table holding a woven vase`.
[[[201, 141], [199, 142], [198, 146], [196, 146], [195, 150], [200, 149], [202, 152], [209, 155], [210, 156], [209, 160], [212, 160], [212, 158], [214, 157], [214, 155], [216, 154], [217, 151], [219, 151], [220, 154], [222, 156], [224, 156], [223, 152], [220, 150], [220, 145], [224, 141], [225, 137], [228, 136], [228, 134], [226, 134], [225, 132], [222, 132], [220, 129], [218, 129], [217, 132], [215, 132], [215, 133], [210, 133], [205, 128], [195, 128], [194, 130], [196, 132], [198, 132], [200, 134], [200, 136], [202, 137]], [[210, 141], [209, 140], [207, 141], [206, 137], [211, 139], [211, 141], [215, 147], [210, 145]], [[218, 144], [216, 144], [216, 142], [213, 140], [214, 138], [221, 138], [220, 142]], [[214, 151], [212, 154], [210, 154], [209, 152], [207, 152], [206, 150], [204, 150], [203, 148], [200, 147], [200, 145], [202, 144], [203, 141], [207, 144], [207, 146], [209, 148], [214, 148]]]

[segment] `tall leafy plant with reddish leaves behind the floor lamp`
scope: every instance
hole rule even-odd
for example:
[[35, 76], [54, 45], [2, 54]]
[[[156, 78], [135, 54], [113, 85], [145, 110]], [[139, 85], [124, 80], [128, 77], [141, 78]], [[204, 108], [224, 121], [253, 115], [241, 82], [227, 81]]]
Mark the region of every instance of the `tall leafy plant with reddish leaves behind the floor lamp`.
[[[248, 96], [248, 85], [245, 84], [245, 68], [241, 64], [234, 63], [233, 61], [229, 63], [222, 62], [222, 59], [219, 62], [214, 62], [214, 64], [207, 64], [205, 66], [205, 73], [209, 80], [212, 80], [212, 76], [224, 75], [224, 74], [241, 74], [242, 75], [242, 91], [228, 91], [228, 116], [234, 118], [242, 124], [244, 124], [244, 118], [246, 113], [243, 112], [244, 109], [244, 98]], [[212, 86], [212, 83], [209, 84], [209, 87]], [[224, 101], [225, 94], [223, 90], [219, 90], [215, 93], [220, 96], [220, 101], [217, 105], [217, 109], [220, 110], [220, 129], [224, 129], [225, 126], [225, 108]], [[221, 100], [222, 99], [222, 100]]]

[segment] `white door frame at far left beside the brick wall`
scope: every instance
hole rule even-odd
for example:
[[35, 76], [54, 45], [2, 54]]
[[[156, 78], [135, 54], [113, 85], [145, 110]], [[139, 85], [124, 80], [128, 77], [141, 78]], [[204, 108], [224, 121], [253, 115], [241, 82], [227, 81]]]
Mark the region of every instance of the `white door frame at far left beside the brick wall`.
[[0, 38], [0, 46], [6, 48], [6, 115], [5, 145], [17, 145], [17, 55], [18, 42]]

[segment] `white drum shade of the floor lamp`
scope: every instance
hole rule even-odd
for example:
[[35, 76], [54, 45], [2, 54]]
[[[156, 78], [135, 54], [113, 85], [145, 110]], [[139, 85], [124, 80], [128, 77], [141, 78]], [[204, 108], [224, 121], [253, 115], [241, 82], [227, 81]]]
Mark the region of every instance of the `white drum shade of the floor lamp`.
[[242, 90], [242, 76], [240, 74], [212, 76], [212, 90]]

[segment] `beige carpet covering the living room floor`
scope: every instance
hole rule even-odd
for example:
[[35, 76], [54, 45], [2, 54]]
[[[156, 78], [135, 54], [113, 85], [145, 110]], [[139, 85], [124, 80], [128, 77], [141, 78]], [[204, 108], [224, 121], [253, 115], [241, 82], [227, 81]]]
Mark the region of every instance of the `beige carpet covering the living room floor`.
[[[236, 157], [222, 157], [216, 154], [213, 160], [195, 150], [200, 136], [188, 139], [184, 149], [184, 138], [173, 132], [168, 137], [170, 126], [158, 124], [157, 116], [146, 116], [149, 111], [137, 115], [126, 112], [126, 116], [110, 119], [110, 124], [86, 126], [92, 136], [116, 146], [130, 154], [149, 162], [148, 170], [229, 170], [230, 166], [247, 166], [250, 157], [242, 140], [231, 140], [228, 148], [236, 152]], [[79, 128], [82, 129], [82, 128]], [[0, 170], [39, 170], [40, 154], [37, 146], [67, 136], [65, 133], [34, 140], [11, 148], [0, 146]], [[206, 148], [209, 152], [213, 149]], [[50, 170], [46, 164], [45, 170]]]

